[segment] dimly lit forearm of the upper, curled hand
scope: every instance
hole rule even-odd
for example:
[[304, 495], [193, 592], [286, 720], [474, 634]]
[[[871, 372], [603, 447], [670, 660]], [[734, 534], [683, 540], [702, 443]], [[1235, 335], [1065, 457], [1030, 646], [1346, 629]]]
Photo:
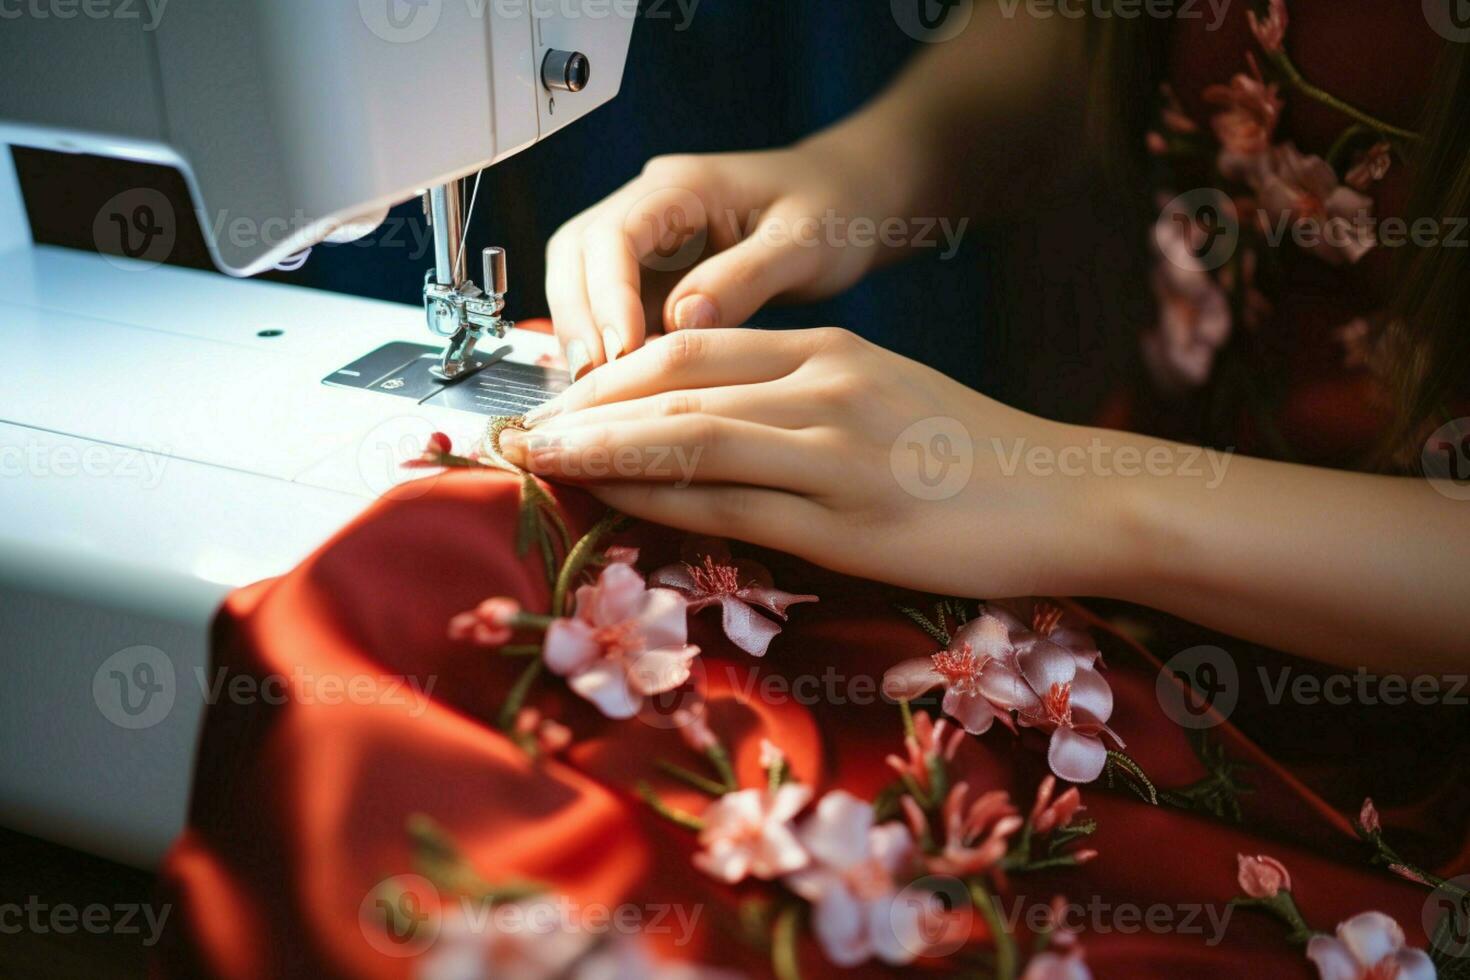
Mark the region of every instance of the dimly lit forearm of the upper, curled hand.
[[864, 167], [897, 216], [995, 219], [1053, 185], [1076, 154], [1083, 22], [1004, 16], [978, 3], [964, 32], [928, 46], [872, 103], [806, 145]]

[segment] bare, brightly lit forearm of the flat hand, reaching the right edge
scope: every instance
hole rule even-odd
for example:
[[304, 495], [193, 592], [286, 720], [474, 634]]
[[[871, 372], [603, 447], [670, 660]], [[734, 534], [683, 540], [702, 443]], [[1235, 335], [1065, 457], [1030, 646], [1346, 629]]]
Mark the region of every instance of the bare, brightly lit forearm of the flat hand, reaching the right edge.
[[[1183, 447], [1102, 432], [1114, 448]], [[1092, 591], [1344, 667], [1470, 669], [1470, 507], [1421, 479], [1232, 457], [1097, 479]]]

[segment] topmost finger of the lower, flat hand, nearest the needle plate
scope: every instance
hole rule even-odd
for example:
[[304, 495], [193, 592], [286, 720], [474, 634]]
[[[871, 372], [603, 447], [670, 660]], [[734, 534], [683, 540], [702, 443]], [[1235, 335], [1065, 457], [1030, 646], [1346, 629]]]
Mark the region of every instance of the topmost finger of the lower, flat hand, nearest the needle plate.
[[797, 370], [811, 347], [810, 331], [681, 331], [660, 336], [597, 370], [526, 416], [541, 425], [592, 406], [664, 391], [753, 385]]

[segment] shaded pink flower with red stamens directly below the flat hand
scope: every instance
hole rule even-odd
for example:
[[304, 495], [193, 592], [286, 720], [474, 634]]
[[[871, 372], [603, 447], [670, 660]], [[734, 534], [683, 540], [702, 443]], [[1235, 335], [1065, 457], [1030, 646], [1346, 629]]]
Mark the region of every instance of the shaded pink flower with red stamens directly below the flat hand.
[[781, 633], [781, 626], [757, 614], [757, 608], [784, 620], [788, 607], [817, 601], [814, 595], [792, 595], [775, 588], [766, 566], [731, 558], [720, 541], [709, 542], [695, 561], [659, 569], [650, 582], [688, 598], [689, 613], [719, 605], [725, 635], [753, 657], [764, 657], [770, 641]]

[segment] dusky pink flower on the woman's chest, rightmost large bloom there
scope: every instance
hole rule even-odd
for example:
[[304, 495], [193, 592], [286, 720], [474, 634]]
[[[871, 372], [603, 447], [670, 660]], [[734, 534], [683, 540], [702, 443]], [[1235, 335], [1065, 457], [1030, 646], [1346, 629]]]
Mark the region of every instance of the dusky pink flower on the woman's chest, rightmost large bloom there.
[[1307, 253], [1327, 264], [1355, 263], [1377, 245], [1367, 220], [1373, 200], [1341, 185], [1322, 157], [1283, 143], [1263, 157], [1255, 181], [1267, 223], [1289, 222]]

